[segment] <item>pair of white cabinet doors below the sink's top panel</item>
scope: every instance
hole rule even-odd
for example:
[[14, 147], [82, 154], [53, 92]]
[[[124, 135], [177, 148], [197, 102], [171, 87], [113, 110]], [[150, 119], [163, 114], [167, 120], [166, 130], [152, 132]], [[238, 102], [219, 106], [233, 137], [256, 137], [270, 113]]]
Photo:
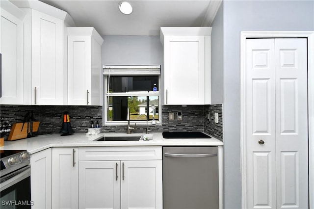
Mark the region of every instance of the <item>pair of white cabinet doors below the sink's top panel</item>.
[[161, 160], [81, 161], [78, 167], [78, 208], [162, 208]]

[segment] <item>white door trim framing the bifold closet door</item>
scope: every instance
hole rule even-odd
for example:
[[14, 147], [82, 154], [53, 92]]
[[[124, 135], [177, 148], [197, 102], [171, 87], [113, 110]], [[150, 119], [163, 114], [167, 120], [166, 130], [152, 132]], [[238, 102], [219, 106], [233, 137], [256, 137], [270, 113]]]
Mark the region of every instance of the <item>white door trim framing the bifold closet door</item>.
[[309, 199], [310, 208], [314, 208], [314, 31], [242, 31], [241, 32], [241, 204], [246, 206], [246, 152], [245, 152], [245, 49], [246, 38], [301, 38], [308, 39], [308, 126], [309, 126]]

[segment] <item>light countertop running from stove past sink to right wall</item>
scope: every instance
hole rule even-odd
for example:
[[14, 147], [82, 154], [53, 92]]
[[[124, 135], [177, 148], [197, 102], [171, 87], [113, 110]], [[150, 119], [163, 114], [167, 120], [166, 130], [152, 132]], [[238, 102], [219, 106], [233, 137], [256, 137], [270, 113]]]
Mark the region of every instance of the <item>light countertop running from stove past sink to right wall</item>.
[[60, 136], [59, 133], [46, 136], [5, 141], [1, 150], [27, 150], [31, 154], [51, 147], [96, 147], [96, 146], [218, 146], [223, 142], [212, 137], [203, 139], [164, 139], [161, 132], [152, 132], [153, 140], [139, 141], [94, 141], [103, 136], [136, 136], [144, 133], [101, 133], [89, 135], [74, 133], [69, 136]]

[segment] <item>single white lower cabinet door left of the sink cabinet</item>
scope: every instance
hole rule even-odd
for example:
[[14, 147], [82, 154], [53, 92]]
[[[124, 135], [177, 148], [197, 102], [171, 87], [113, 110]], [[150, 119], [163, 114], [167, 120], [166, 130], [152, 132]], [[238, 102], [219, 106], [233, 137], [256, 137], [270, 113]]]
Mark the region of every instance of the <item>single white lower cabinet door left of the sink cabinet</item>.
[[78, 208], [78, 148], [52, 148], [52, 208]]

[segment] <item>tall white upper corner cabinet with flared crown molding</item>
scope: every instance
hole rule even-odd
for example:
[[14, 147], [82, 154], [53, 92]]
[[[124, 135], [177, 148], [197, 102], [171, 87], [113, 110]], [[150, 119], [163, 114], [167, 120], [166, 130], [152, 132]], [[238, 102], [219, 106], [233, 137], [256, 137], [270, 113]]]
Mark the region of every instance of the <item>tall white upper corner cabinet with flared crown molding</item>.
[[67, 104], [68, 13], [41, 1], [11, 1], [25, 12], [23, 104]]

